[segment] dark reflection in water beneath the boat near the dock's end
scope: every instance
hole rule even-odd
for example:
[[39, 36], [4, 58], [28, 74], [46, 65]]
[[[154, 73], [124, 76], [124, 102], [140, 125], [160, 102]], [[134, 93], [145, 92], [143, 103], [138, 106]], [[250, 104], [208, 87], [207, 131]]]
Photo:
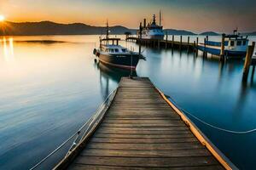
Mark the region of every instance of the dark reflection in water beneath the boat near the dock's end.
[[109, 86], [109, 83], [116, 83], [118, 85], [122, 77], [137, 77], [137, 71], [119, 69], [117, 67], [105, 65], [98, 60], [95, 60], [95, 65], [100, 71], [100, 84], [103, 99], [106, 99], [113, 91], [113, 89], [110, 89], [110, 87], [113, 86]]

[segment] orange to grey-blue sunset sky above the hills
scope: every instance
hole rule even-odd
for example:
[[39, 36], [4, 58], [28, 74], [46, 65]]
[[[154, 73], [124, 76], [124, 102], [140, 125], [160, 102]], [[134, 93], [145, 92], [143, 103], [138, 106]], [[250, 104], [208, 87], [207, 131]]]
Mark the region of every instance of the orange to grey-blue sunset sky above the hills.
[[256, 0], [0, 0], [6, 20], [137, 28], [162, 11], [165, 28], [195, 32], [256, 31]]

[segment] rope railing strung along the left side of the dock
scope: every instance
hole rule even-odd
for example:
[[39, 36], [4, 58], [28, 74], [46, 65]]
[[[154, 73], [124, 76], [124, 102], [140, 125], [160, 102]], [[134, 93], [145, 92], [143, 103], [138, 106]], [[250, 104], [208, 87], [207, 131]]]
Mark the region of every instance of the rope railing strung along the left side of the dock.
[[108, 110], [109, 105], [111, 105], [112, 100], [116, 94], [117, 89], [115, 89], [111, 94], [108, 95], [108, 98], [104, 100], [102, 105], [98, 107], [95, 114], [90, 117], [90, 119], [84, 123], [78, 131], [73, 133], [68, 139], [66, 139], [62, 144], [60, 144], [55, 150], [49, 153], [48, 156], [45, 156], [44, 159], [38, 161], [30, 170], [34, 169], [52, 169], [54, 168], [61, 160], [69, 156], [76, 146], [81, 144], [85, 137], [101, 122], [103, 116]]

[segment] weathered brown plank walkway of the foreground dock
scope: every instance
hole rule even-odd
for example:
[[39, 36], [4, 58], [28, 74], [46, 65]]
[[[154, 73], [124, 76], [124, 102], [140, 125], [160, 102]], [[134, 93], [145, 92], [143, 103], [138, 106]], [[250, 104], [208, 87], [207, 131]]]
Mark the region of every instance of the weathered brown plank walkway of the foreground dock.
[[223, 169], [148, 78], [122, 78], [113, 104], [68, 169]]

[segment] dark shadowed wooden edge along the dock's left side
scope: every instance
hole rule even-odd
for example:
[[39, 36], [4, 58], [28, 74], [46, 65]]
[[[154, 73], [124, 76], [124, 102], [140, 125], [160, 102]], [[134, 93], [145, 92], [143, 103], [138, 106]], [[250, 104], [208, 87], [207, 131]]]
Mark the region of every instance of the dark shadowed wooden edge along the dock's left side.
[[[115, 96], [117, 94], [119, 87], [116, 88], [115, 92], [113, 92], [113, 99], [115, 99]], [[82, 142], [80, 144], [78, 144], [73, 151], [67, 156], [64, 157], [53, 169], [54, 170], [62, 170], [62, 169], [67, 169], [67, 167], [70, 165], [70, 163], [77, 157], [79, 156], [79, 153], [84, 149], [85, 145], [88, 143], [90, 137], [96, 132], [96, 129], [100, 126], [101, 122], [103, 121], [104, 117], [106, 116], [106, 113], [108, 112], [108, 109], [110, 108], [110, 106], [112, 105], [112, 101], [113, 99], [111, 99], [110, 105], [108, 105], [108, 107], [105, 109], [102, 118], [96, 123], [96, 126], [92, 127], [92, 129], [90, 130], [90, 132], [84, 136], [84, 139], [82, 140]]]

